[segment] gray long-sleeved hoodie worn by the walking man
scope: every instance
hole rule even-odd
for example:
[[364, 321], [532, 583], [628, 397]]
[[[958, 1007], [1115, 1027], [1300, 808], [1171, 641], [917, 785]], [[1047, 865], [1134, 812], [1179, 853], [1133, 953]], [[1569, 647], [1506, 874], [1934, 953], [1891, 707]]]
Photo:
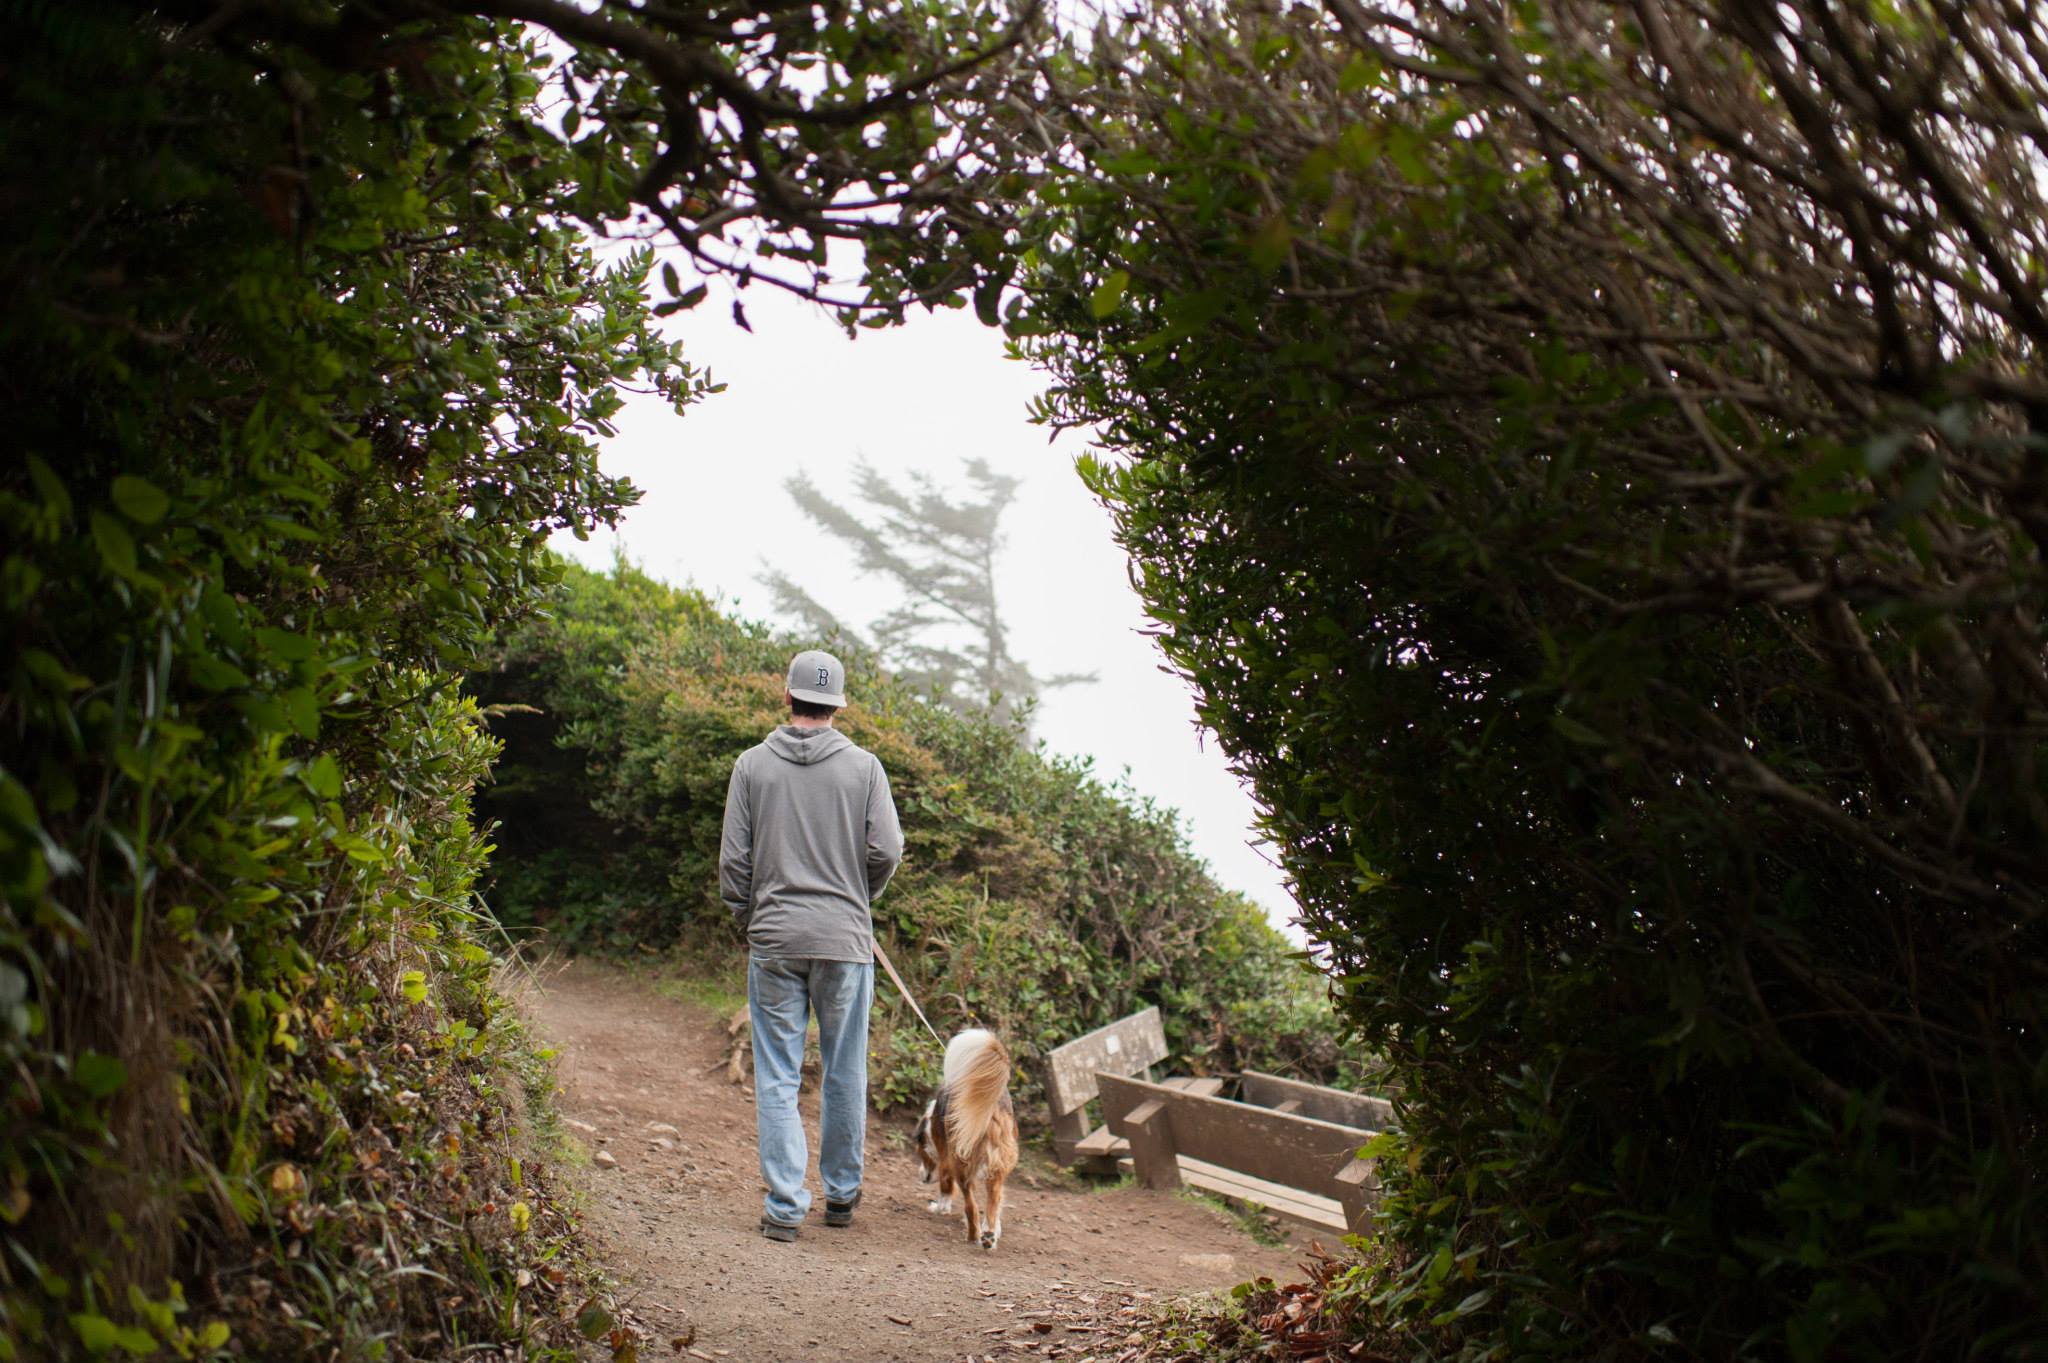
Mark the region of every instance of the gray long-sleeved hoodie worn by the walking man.
[[844, 733], [782, 724], [739, 753], [719, 896], [756, 956], [874, 960], [868, 905], [901, 860], [889, 774]]

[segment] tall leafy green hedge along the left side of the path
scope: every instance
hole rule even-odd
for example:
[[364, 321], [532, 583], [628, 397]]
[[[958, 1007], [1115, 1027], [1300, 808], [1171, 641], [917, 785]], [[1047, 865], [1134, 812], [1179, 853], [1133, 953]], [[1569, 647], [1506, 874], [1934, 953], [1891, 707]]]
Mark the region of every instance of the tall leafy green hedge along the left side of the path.
[[8, 14], [0, 1359], [567, 1357], [449, 669], [688, 391], [647, 260], [510, 29]]

